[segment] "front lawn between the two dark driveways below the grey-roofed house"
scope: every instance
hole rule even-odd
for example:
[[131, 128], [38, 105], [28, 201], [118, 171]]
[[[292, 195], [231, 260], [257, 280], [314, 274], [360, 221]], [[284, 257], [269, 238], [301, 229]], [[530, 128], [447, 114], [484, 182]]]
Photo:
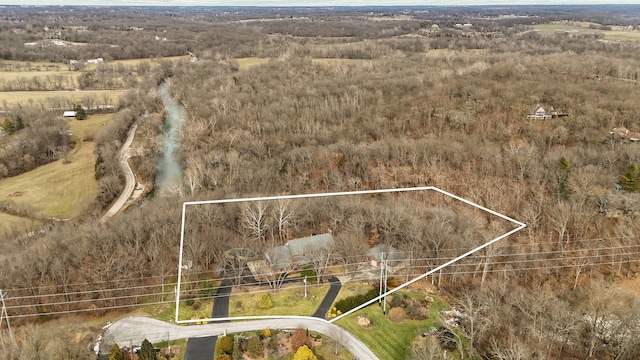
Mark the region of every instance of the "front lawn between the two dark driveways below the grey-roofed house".
[[[298, 315], [311, 316], [320, 306], [320, 302], [329, 291], [329, 285], [308, 285], [307, 298], [304, 297], [302, 283], [285, 285], [275, 291], [263, 289], [256, 293], [232, 293], [229, 299], [229, 316], [267, 316], [267, 315]], [[259, 309], [258, 302], [264, 292], [271, 295], [273, 307]]]

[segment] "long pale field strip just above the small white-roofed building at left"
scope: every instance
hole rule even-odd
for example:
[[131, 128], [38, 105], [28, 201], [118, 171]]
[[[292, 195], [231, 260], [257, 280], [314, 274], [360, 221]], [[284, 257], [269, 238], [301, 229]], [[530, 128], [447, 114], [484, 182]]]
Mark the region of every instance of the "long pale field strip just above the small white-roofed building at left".
[[[118, 103], [124, 90], [86, 90], [86, 91], [1, 91], [0, 104], [3, 106], [33, 106], [49, 108], [50, 104], [82, 104], [86, 97], [95, 97], [97, 103]], [[65, 109], [66, 110], [66, 109]], [[71, 110], [71, 107], [68, 109]]]

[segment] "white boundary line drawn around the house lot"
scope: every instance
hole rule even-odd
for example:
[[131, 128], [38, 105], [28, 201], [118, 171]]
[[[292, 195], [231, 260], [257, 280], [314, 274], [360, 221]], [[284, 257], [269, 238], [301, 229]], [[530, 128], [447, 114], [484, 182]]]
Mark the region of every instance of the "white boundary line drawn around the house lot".
[[[472, 249], [452, 260], [447, 261], [446, 263], [435, 267], [431, 270], [429, 270], [428, 272], [412, 279], [409, 280], [408, 282], [395, 287], [392, 290], [387, 291], [386, 293], [376, 297], [375, 299], [369, 300], [366, 303], [351, 309], [347, 312], [345, 312], [344, 314], [341, 314], [335, 318], [332, 318], [331, 320], [326, 320], [326, 319], [321, 319], [327, 323], [332, 323], [334, 321], [337, 321], [349, 314], [352, 314], [355, 311], [358, 311], [366, 306], [369, 306], [370, 304], [373, 304], [374, 302], [382, 299], [383, 297], [392, 294], [406, 286], [409, 286], [413, 283], [415, 283], [416, 281], [419, 281], [421, 279], [424, 279], [425, 277], [444, 269], [445, 267], [458, 262], [462, 259], [464, 259], [465, 257], [479, 251], [482, 250], [484, 248], [486, 248], [487, 246], [490, 246], [502, 239], [504, 239], [505, 237], [512, 235], [522, 229], [524, 229], [527, 225], [512, 219], [506, 215], [500, 214], [499, 212], [493, 211], [491, 209], [488, 209], [484, 206], [478, 205], [474, 202], [471, 202], [469, 200], [463, 199], [459, 196], [453, 195], [449, 192], [446, 192], [444, 190], [438, 189], [437, 187], [434, 186], [425, 186], [425, 187], [414, 187], [414, 188], [400, 188], [400, 189], [381, 189], [381, 190], [363, 190], [363, 191], [347, 191], [347, 192], [336, 192], [336, 193], [316, 193], [316, 194], [299, 194], [299, 195], [282, 195], [282, 196], [267, 196], [267, 197], [258, 197], [258, 198], [236, 198], [236, 199], [225, 199], [225, 200], [203, 200], [203, 201], [188, 201], [188, 202], [184, 202], [182, 204], [182, 224], [181, 224], [181, 229], [180, 229], [180, 259], [178, 262], [178, 287], [176, 289], [176, 324], [189, 324], [189, 323], [195, 323], [195, 322], [201, 322], [201, 321], [230, 321], [230, 320], [257, 320], [257, 319], [308, 319], [310, 318], [309, 316], [241, 316], [241, 317], [226, 317], [226, 318], [206, 318], [206, 319], [196, 319], [196, 320], [179, 320], [178, 319], [178, 314], [179, 314], [179, 310], [180, 310], [180, 282], [182, 280], [182, 255], [183, 255], [183, 248], [184, 248], [184, 228], [185, 228], [185, 213], [186, 213], [186, 209], [187, 206], [191, 206], [191, 205], [207, 205], [207, 204], [226, 204], [226, 203], [238, 203], [238, 202], [249, 202], [249, 201], [271, 201], [271, 200], [281, 200], [281, 199], [306, 199], [306, 198], [320, 198], [320, 197], [330, 197], [330, 196], [344, 196], [344, 195], [366, 195], [366, 194], [382, 194], [382, 193], [397, 193], [397, 192], [408, 192], [408, 191], [427, 191], [427, 190], [433, 190], [436, 192], [439, 192], [443, 195], [449, 196], [451, 198], [454, 198], [458, 201], [461, 201], [467, 205], [471, 205], [477, 209], [480, 209], [482, 211], [488, 212], [492, 215], [498, 216], [504, 220], [507, 220], [509, 222], [514, 223], [515, 225], [517, 225], [517, 227], [503, 235], [500, 235], [498, 237], [496, 237], [493, 240], [490, 240], [480, 246], [478, 246], [475, 249]], [[314, 318], [317, 319], [317, 318]]]

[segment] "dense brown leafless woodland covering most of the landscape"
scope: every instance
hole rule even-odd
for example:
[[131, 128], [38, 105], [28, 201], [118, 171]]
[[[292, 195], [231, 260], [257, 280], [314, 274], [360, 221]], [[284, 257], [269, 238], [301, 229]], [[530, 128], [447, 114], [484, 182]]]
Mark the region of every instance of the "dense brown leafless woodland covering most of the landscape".
[[[9, 314], [24, 316], [16, 323], [90, 306], [105, 313], [100, 309], [156, 291], [153, 285], [176, 273], [184, 201], [436, 186], [527, 224], [429, 280], [464, 312], [467, 354], [640, 356], [637, 293], [612, 290], [638, 272], [640, 145], [609, 134], [619, 126], [640, 129], [640, 42], [529, 28], [532, 16], [536, 23], [635, 25], [639, 8], [126, 10], [3, 12], [6, 60], [192, 54], [141, 70], [96, 138], [100, 191], [92, 211], [0, 245], [12, 254], [1, 265], [0, 288], [16, 289], [11, 297], [25, 302], [9, 299]], [[512, 14], [519, 16], [498, 17]], [[49, 32], [89, 45], [22, 45]], [[241, 70], [236, 58], [249, 56], [270, 60]], [[162, 82], [185, 107], [182, 182], [101, 224], [99, 215], [121, 190], [118, 151], [134, 123], [145, 148], [132, 159], [136, 174], [147, 183], [157, 175]], [[528, 119], [540, 106], [568, 116]], [[55, 147], [54, 156], [73, 146], [64, 126], [28, 133], [36, 128], [32, 119], [55, 123], [29, 111], [11, 114], [25, 125], [12, 136], [31, 139], [37, 150], [0, 153], [14, 161], [0, 176], [29, 170], [27, 157], [44, 156], [45, 148]], [[349, 268], [384, 243], [411, 254], [408, 278], [513, 228], [444, 197], [416, 194], [202, 207], [188, 219], [187, 256], [194, 271], [211, 276], [220, 275], [225, 250], [259, 253], [329, 228], [338, 243], [333, 263]], [[8, 358], [54, 351], [22, 345]], [[71, 346], [58, 344], [57, 351], [83, 358]], [[412, 358], [441, 355], [428, 349]]]

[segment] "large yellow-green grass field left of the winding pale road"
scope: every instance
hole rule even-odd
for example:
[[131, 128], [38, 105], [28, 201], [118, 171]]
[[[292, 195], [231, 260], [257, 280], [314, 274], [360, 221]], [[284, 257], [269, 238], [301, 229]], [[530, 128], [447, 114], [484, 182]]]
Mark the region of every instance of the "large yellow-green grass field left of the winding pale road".
[[[79, 215], [94, 199], [93, 142], [82, 138], [97, 132], [113, 115], [69, 120], [77, 145], [63, 159], [0, 181], [0, 200], [29, 208], [34, 215], [68, 219]], [[25, 219], [25, 221], [31, 221]]]

